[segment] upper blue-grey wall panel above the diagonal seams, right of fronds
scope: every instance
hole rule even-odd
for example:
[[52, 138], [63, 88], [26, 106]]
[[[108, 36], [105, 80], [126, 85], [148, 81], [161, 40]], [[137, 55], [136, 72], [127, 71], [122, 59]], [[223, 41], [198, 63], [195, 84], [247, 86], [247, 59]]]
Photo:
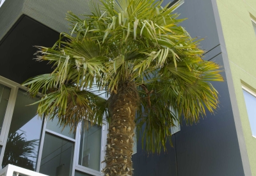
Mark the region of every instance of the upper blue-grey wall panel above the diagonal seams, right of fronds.
[[211, 0], [185, 0], [175, 13], [180, 19], [186, 19], [181, 26], [194, 38], [205, 38], [201, 42], [202, 49], [209, 51], [220, 44]]

